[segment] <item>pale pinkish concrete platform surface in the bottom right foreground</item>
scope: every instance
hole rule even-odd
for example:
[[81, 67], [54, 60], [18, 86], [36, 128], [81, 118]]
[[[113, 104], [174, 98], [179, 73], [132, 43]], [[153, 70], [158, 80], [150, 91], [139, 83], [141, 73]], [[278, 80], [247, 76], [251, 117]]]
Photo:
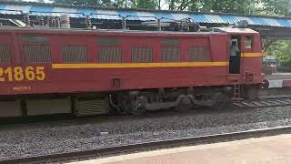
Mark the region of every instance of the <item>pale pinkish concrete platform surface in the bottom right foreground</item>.
[[291, 164], [291, 135], [161, 149], [74, 164]]

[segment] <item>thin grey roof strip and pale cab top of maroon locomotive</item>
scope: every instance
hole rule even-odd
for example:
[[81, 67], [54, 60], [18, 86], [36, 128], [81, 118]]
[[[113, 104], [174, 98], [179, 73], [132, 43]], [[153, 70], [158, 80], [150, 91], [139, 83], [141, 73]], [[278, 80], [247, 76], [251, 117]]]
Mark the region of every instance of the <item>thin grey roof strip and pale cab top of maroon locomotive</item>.
[[229, 27], [219, 27], [213, 28], [215, 31], [210, 32], [179, 32], [179, 31], [145, 31], [145, 30], [123, 30], [123, 29], [80, 29], [80, 28], [29, 28], [29, 27], [1, 27], [1, 31], [19, 31], [30, 34], [40, 34], [40, 33], [57, 33], [57, 34], [118, 34], [120, 36], [124, 35], [148, 35], [148, 36], [212, 36], [212, 35], [224, 35], [226, 33], [231, 34], [256, 34], [255, 30], [249, 28], [229, 28]]

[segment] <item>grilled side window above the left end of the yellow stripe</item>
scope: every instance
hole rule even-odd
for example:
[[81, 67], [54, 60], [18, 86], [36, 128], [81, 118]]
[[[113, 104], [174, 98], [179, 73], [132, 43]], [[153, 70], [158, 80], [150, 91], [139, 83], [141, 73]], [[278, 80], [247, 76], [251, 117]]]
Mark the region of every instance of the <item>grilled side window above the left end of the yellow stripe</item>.
[[62, 60], [64, 63], [86, 63], [88, 62], [87, 46], [63, 45]]

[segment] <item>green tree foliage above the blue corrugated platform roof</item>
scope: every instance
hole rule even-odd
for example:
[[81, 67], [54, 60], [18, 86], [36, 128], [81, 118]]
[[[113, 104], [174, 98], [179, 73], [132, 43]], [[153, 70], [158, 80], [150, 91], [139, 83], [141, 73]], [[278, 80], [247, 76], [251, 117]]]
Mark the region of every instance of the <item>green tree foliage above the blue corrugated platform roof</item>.
[[55, 0], [55, 4], [236, 14], [288, 15], [289, 0]]

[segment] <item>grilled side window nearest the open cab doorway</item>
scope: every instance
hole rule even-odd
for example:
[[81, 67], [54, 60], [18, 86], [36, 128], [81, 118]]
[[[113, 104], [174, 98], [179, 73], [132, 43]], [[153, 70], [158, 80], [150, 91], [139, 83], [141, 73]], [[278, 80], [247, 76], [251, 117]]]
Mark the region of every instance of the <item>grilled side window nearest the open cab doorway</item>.
[[209, 51], [206, 47], [190, 46], [189, 47], [189, 60], [190, 62], [208, 62], [211, 61]]

